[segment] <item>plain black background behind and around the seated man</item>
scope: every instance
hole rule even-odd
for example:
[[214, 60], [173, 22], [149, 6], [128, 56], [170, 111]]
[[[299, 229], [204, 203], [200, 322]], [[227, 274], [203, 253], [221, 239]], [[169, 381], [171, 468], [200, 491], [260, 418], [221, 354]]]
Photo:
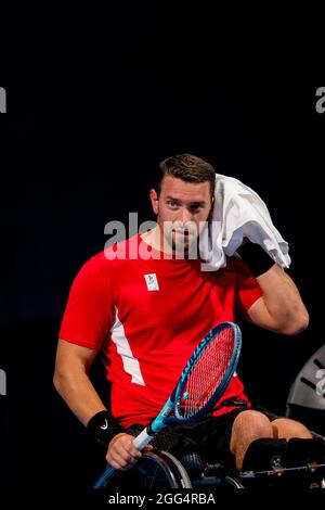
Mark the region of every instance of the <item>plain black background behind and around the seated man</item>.
[[169, 155], [196, 154], [253, 188], [289, 242], [311, 323], [295, 337], [240, 323], [250, 397], [284, 412], [299, 369], [324, 343], [322, 82], [271, 73], [270, 48], [251, 71], [240, 41], [230, 50], [220, 38], [222, 16], [205, 9], [126, 5], [104, 20], [93, 9], [57, 22], [28, 8], [3, 47], [2, 487], [83, 485], [84, 431], [52, 386], [60, 321], [76, 272], [107, 241], [105, 224], [135, 211], [139, 221], [153, 218], [147, 191]]

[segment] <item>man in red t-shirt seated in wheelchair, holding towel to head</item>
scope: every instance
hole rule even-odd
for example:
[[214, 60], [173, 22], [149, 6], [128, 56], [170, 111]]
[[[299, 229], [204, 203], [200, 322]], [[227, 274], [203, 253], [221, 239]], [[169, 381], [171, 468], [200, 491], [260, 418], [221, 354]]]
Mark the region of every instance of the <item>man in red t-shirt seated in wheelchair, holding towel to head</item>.
[[[300, 333], [309, 322], [295, 283], [258, 245], [248, 242], [238, 250], [246, 263], [229, 257], [225, 268], [202, 271], [203, 260], [193, 254], [213, 207], [216, 171], [190, 154], [169, 157], [159, 168], [159, 182], [151, 190], [157, 226], [82, 267], [57, 346], [55, 387], [105, 445], [106, 460], [116, 469], [141, 457], [128, 429], [156, 417], [195, 346], [217, 323], [234, 321], [235, 306], [255, 324], [284, 335]], [[115, 257], [118, 253], [127, 255]], [[88, 377], [100, 349], [112, 410]], [[301, 423], [271, 422], [250, 409], [236, 374], [217, 407], [197, 426], [177, 431], [183, 437], [188, 433], [209, 461], [232, 458], [239, 469], [256, 439], [311, 437]]]

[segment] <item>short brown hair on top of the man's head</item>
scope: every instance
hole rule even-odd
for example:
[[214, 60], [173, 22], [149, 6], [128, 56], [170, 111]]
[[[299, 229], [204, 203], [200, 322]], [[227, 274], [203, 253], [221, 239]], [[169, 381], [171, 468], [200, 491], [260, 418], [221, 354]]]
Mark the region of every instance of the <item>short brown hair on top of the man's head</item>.
[[156, 191], [159, 194], [164, 177], [171, 176], [186, 182], [210, 182], [210, 195], [213, 199], [216, 186], [216, 170], [206, 161], [192, 154], [177, 154], [159, 163], [160, 179]]

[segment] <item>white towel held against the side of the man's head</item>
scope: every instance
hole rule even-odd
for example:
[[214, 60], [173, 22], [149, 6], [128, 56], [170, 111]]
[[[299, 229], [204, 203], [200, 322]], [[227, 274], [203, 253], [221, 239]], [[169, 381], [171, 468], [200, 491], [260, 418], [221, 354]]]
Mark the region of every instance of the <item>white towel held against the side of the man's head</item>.
[[225, 267], [225, 256], [235, 254], [243, 238], [260, 244], [281, 267], [289, 267], [288, 243], [274, 227], [261, 197], [238, 179], [217, 174], [212, 218], [200, 234], [203, 270]]

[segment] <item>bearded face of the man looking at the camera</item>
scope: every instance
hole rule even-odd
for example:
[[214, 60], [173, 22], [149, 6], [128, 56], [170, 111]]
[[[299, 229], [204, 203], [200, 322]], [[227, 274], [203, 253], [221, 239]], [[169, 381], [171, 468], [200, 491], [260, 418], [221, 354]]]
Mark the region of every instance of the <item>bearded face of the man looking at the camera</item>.
[[151, 200], [158, 215], [157, 224], [164, 245], [167, 242], [172, 253], [188, 253], [190, 247], [197, 244], [199, 232], [212, 207], [210, 182], [185, 182], [166, 176], [159, 197], [152, 190]]

